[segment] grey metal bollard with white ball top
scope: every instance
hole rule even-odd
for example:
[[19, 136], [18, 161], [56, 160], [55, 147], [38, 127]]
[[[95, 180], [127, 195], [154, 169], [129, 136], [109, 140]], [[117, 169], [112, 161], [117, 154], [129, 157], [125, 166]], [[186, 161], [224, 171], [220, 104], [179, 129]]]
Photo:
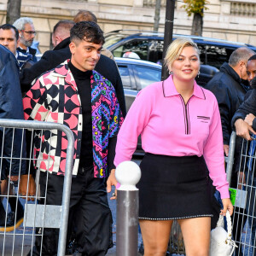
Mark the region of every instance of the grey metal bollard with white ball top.
[[117, 196], [117, 256], [137, 256], [138, 243], [138, 189], [141, 178], [136, 163], [124, 161], [117, 166], [115, 177], [120, 183]]

